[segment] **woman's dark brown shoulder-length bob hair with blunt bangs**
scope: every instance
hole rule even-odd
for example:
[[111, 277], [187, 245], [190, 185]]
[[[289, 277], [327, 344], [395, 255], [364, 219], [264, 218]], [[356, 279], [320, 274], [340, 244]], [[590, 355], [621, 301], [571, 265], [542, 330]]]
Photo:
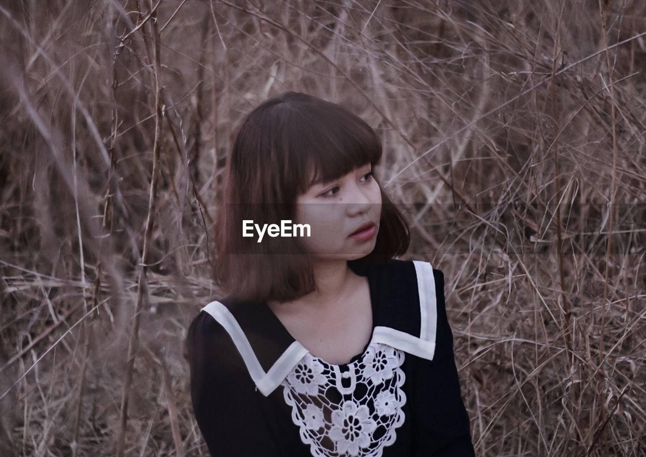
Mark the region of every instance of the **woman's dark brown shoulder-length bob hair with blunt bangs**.
[[[316, 290], [313, 268], [297, 238], [242, 237], [242, 221], [293, 220], [298, 195], [318, 180], [347, 175], [382, 156], [379, 137], [348, 109], [315, 96], [286, 92], [262, 102], [236, 131], [215, 224], [214, 281], [234, 299], [279, 302]], [[313, 176], [313, 179], [310, 178]], [[374, 250], [349, 260], [353, 271], [408, 249], [402, 213], [379, 184], [382, 198]]]

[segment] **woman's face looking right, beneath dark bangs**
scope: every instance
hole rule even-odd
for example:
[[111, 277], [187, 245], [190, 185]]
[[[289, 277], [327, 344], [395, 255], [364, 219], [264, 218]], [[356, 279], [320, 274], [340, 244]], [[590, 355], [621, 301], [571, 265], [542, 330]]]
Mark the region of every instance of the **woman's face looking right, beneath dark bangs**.
[[[311, 228], [310, 237], [298, 240], [313, 258], [355, 260], [375, 248], [381, 193], [371, 170], [371, 164], [363, 165], [331, 182], [314, 184], [297, 197], [295, 223]], [[373, 228], [351, 237], [366, 222]]]

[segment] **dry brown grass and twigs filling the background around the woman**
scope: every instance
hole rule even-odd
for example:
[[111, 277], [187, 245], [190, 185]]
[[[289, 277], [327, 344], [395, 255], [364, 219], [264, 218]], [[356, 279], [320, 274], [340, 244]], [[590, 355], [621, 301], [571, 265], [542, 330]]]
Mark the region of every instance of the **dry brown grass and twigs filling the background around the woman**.
[[645, 2], [12, 0], [0, 49], [0, 455], [207, 456], [183, 339], [285, 90], [379, 133], [477, 455], [646, 455]]

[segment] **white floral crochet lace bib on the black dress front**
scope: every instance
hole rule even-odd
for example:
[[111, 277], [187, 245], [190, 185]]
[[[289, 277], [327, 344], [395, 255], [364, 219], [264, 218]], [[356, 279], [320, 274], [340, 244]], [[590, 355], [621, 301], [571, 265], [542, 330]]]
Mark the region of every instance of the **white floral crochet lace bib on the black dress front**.
[[404, 352], [382, 343], [370, 343], [348, 365], [331, 365], [309, 352], [300, 359], [280, 385], [313, 456], [380, 457], [395, 442], [406, 403], [402, 363]]

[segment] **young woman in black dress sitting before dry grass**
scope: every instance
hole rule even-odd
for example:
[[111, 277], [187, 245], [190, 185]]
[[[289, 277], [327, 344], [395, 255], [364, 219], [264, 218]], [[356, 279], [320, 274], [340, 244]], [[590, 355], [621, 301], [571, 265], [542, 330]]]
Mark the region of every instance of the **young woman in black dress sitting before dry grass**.
[[[367, 123], [307, 94], [240, 126], [216, 229], [225, 298], [187, 335], [213, 457], [474, 456], [444, 275], [395, 258], [409, 233], [381, 156]], [[285, 221], [310, 236], [262, 229]]]

